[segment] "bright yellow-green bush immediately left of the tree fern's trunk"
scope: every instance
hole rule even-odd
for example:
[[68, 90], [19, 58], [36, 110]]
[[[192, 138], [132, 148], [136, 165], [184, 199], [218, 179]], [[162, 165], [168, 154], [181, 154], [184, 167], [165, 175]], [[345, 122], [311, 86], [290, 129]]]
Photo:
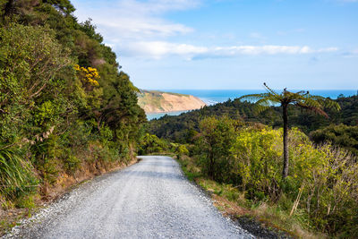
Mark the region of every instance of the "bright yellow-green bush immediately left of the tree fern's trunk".
[[[279, 182], [282, 166], [282, 132], [269, 128], [246, 128], [238, 132], [231, 151], [234, 154], [234, 180], [243, 190], [277, 193], [277, 188], [267, 188]], [[251, 195], [252, 196], [252, 195]], [[272, 197], [277, 195], [272, 195]]]

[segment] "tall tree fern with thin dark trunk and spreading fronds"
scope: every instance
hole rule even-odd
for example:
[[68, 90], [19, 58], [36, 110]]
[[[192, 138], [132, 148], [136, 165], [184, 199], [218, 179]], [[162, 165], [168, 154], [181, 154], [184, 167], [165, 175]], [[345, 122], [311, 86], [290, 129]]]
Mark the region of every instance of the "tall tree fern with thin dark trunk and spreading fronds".
[[270, 89], [266, 83], [263, 83], [266, 93], [250, 94], [241, 97], [240, 99], [248, 99], [254, 101], [259, 112], [266, 110], [268, 107], [277, 106], [282, 107], [282, 118], [284, 120], [284, 168], [282, 177], [286, 178], [288, 175], [288, 114], [287, 109], [289, 105], [301, 107], [323, 115], [328, 118], [325, 108], [334, 108], [339, 110], [340, 107], [336, 101], [320, 96], [312, 96], [309, 91], [290, 92], [286, 89], [282, 93], [277, 93]]

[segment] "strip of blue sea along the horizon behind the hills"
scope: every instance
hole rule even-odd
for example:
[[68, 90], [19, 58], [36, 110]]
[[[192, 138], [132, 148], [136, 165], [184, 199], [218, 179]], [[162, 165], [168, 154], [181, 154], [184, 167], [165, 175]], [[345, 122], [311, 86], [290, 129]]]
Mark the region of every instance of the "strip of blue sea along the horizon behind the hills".
[[[180, 94], [187, 94], [192, 95], [194, 97], [200, 98], [204, 101], [208, 106], [215, 105], [217, 103], [225, 102], [229, 98], [239, 98], [243, 95], [247, 94], [258, 94], [264, 93], [265, 90], [162, 90], [166, 92], [172, 93], [180, 93]], [[292, 91], [299, 91], [299, 90], [292, 90]], [[343, 95], [345, 97], [350, 97], [357, 95], [357, 90], [309, 90], [311, 95], [319, 95], [322, 97], [328, 98], [337, 98], [339, 95]], [[159, 114], [147, 114], [148, 120], [154, 118], [160, 118], [164, 115], [180, 115], [185, 111], [175, 111], [169, 113], [159, 113]]]

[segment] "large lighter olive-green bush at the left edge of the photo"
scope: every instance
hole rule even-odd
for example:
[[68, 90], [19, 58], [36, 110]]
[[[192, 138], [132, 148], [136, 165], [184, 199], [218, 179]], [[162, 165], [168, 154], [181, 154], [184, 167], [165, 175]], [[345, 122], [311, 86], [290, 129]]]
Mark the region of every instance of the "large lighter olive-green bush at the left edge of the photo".
[[50, 99], [44, 102], [39, 96], [57, 93], [53, 88], [62, 84], [58, 74], [72, 61], [68, 51], [55, 41], [54, 32], [46, 28], [14, 24], [0, 30], [0, 39], [0, 140], [13, 143], [31, 132], [27, 124], [31, 109], [39, 110], [37, 124], [63, 112], [63, 105]]

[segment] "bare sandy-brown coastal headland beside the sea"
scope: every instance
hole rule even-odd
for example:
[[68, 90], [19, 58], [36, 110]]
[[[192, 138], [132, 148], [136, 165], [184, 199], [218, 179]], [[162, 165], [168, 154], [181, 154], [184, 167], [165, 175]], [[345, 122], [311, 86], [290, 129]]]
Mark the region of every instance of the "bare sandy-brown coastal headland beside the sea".
[[191, 95], [157, 90], [141, 90], [138, 96], [138, 105], [144, 109], [146, 113], [192, 110], [206, 106], [200, 98]]

